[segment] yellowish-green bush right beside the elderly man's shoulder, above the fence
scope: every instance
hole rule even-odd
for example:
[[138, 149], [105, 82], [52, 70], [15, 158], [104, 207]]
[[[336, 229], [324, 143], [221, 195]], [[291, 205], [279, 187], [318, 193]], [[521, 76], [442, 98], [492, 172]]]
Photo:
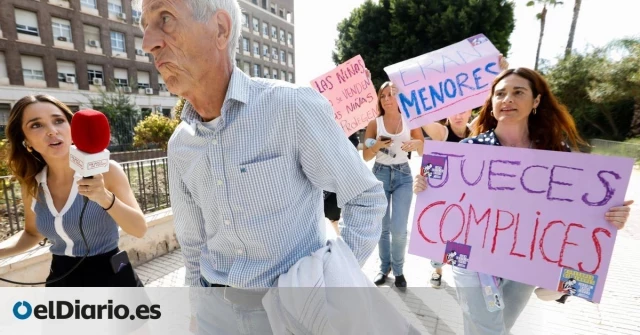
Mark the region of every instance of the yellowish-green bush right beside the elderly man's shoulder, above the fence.
[[145, 147], [156, 144], [162, 150], [167, 150], [167, 144], [171, 134], [180, 122], [159, 114], [151, 114], [140, 121], [135, 127], [133, 144], [136, 147]]

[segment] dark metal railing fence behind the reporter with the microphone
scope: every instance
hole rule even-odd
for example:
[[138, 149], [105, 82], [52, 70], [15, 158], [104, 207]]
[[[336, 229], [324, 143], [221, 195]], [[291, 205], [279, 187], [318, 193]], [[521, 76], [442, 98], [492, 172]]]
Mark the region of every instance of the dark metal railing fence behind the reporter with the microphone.
[[[171, 207], [167, 158], [120, 163], [144, 213]], [[0, 241], [19, 232], [24, 224], [20, 185], [11, 176], [0, 177]]]

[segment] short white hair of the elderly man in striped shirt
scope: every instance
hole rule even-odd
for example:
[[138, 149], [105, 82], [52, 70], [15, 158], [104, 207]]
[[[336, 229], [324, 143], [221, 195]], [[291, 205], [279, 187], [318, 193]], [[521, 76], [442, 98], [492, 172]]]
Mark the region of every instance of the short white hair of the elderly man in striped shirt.
[[[231, 16], [231, 31], [227, 52], [229, 53], [230, 65], [236, 64], [236, 48], [240, 44], [242, 37], [242, 10], [238, 0], [185, 0], [193, 18], [200, 22], [207, 22], [218, 10], [224, 10]], [[132, 1], [133, 9], [142, 11], [142, 0]]]

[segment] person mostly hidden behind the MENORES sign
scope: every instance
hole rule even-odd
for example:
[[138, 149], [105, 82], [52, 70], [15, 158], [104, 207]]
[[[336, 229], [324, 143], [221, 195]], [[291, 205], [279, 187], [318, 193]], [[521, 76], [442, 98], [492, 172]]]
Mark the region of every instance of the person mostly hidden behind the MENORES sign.
[[[507, 68], [509, 68], [509, 63], [501, 54], [500, 69], [506, 70]], [[434, 141], [462, 141], [471, 135], [471, 127], [473, 125], [473, 122], [471, 121], [471, 112], [472, 110], [464, 111], [446, 118], [444, 122], [433, 122], [422, 126], [425, 137], [428, 136]], [[431, 261], [431, 266], [434, 268], [434, 271], [431, 274], [431, 286], [434, 288], [440, 288], [442, 287], [443, 264]]]

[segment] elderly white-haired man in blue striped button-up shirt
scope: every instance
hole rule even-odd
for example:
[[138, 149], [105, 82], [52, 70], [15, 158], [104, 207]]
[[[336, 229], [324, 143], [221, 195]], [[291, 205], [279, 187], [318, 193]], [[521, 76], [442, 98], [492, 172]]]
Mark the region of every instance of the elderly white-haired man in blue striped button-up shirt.
[[[322, 190], [337, 194], [342, 237], [362, 265], [380, 238], [382, 184], [319, 93], [234, 66], [240, 15], [237, 0], [142, 1], [143, 49], [169, 91], [186, 100], [168, 149], [186, 282], [271, 286], [325, 245]], [[257, 304], [243, 309], [218, 298], [207, 315], [199, 310], [199, 327], [270, 329]]]

